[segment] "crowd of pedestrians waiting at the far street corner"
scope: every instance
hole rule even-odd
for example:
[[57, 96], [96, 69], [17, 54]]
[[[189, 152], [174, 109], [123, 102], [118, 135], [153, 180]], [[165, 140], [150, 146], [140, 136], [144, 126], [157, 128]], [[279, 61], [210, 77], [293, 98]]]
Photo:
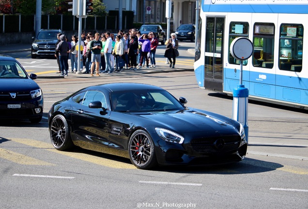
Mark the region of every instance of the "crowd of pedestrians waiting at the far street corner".
[[[59, 73], [67, 76], [69, 72], [68, 59], [71, 60], [71, 72], [78, 69], [78, 54], [81, 54], [80, 66], [83, 74], [100, 76], [100, 73], [112, 74], [123, 69], [136, 70], [137, 68], [155, 68], [155, 52], [158, 40], [154, 32], [140, 34], [140, 31], [131, 29], [127, 33], [120, 30], [116, 35], [110, 32], [102, 34], [82, 32], [81, 45], [78, 45], [78, 36], [73, 35], [71, 41], [64, 34], [58, 33], [55, 57], [59, 65]], [[171, 49], [177, 48], [177, 40], [169, 40]], [[167, 48], [166, 52], [170, 48]], [[166, 53], [165, 53], [166, 57]], [[173, 61], [171, 61], [173, 58]], [[174, 68], [175, 55], [169, 51], [170, 67]]]

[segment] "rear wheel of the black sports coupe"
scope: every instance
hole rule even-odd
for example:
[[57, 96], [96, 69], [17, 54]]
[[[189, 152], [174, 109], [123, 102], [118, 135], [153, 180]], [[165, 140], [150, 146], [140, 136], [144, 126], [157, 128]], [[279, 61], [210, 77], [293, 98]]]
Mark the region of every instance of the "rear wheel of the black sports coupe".
[[73, 141], [64, 116], [56, 115], [50, 123], [49, 130], [51, 143], [54, 148], [63, 151], [73, 147]]

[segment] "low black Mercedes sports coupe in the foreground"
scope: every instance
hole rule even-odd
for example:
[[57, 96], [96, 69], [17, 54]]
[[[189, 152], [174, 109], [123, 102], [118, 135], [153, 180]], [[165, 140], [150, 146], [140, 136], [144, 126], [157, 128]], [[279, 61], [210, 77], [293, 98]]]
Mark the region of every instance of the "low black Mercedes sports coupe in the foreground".
[[185, 107], [186, 102], [145, 84], [87, 87], [50, 108], [51, 142], [58, 150], [77, 145], [127, 157], [141, 169], [245, 158], [247, 143], [240, 123]]

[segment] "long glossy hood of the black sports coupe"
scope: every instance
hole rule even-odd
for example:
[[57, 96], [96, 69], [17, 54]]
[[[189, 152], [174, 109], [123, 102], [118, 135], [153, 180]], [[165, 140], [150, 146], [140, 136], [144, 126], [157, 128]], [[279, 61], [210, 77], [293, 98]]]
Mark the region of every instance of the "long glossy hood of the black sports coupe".
[[217, 114], [209, 114], [198, 110], [152, 112], [140, 114], [140, 117], [150, 119], [156, 127], [189, 132], [219, 132], [219, 130], [234, 130], [233, 121]]

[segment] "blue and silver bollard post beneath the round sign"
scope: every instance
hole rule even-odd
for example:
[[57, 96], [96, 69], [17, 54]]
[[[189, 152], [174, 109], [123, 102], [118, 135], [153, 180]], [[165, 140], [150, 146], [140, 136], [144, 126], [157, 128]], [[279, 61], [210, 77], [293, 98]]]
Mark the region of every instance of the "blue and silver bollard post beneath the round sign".
[[233, 119], [243, 125], [248, 144], [248, 89], [244, 85], [233, 89]]

